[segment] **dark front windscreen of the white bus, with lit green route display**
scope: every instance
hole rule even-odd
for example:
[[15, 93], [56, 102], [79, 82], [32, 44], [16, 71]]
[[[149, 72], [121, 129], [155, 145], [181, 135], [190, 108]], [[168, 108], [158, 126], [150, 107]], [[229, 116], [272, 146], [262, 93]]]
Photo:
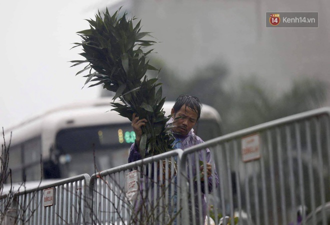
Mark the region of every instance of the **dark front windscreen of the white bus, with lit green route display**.
[[130, 123], [62, 129], [55, 140], [61, 174], [92, 174], [125, 164], [134, 140]]

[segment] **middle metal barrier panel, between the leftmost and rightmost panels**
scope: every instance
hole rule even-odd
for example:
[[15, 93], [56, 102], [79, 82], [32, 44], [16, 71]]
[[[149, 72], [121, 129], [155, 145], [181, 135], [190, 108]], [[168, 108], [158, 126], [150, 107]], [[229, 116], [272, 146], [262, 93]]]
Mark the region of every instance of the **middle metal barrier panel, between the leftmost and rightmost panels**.
[[[176, 220], [177, 159], [173, 150], [95, 173], [90, 195], [95, 224], [171, 224]], [[136, 182], [137, 181], [137, 182]]]

